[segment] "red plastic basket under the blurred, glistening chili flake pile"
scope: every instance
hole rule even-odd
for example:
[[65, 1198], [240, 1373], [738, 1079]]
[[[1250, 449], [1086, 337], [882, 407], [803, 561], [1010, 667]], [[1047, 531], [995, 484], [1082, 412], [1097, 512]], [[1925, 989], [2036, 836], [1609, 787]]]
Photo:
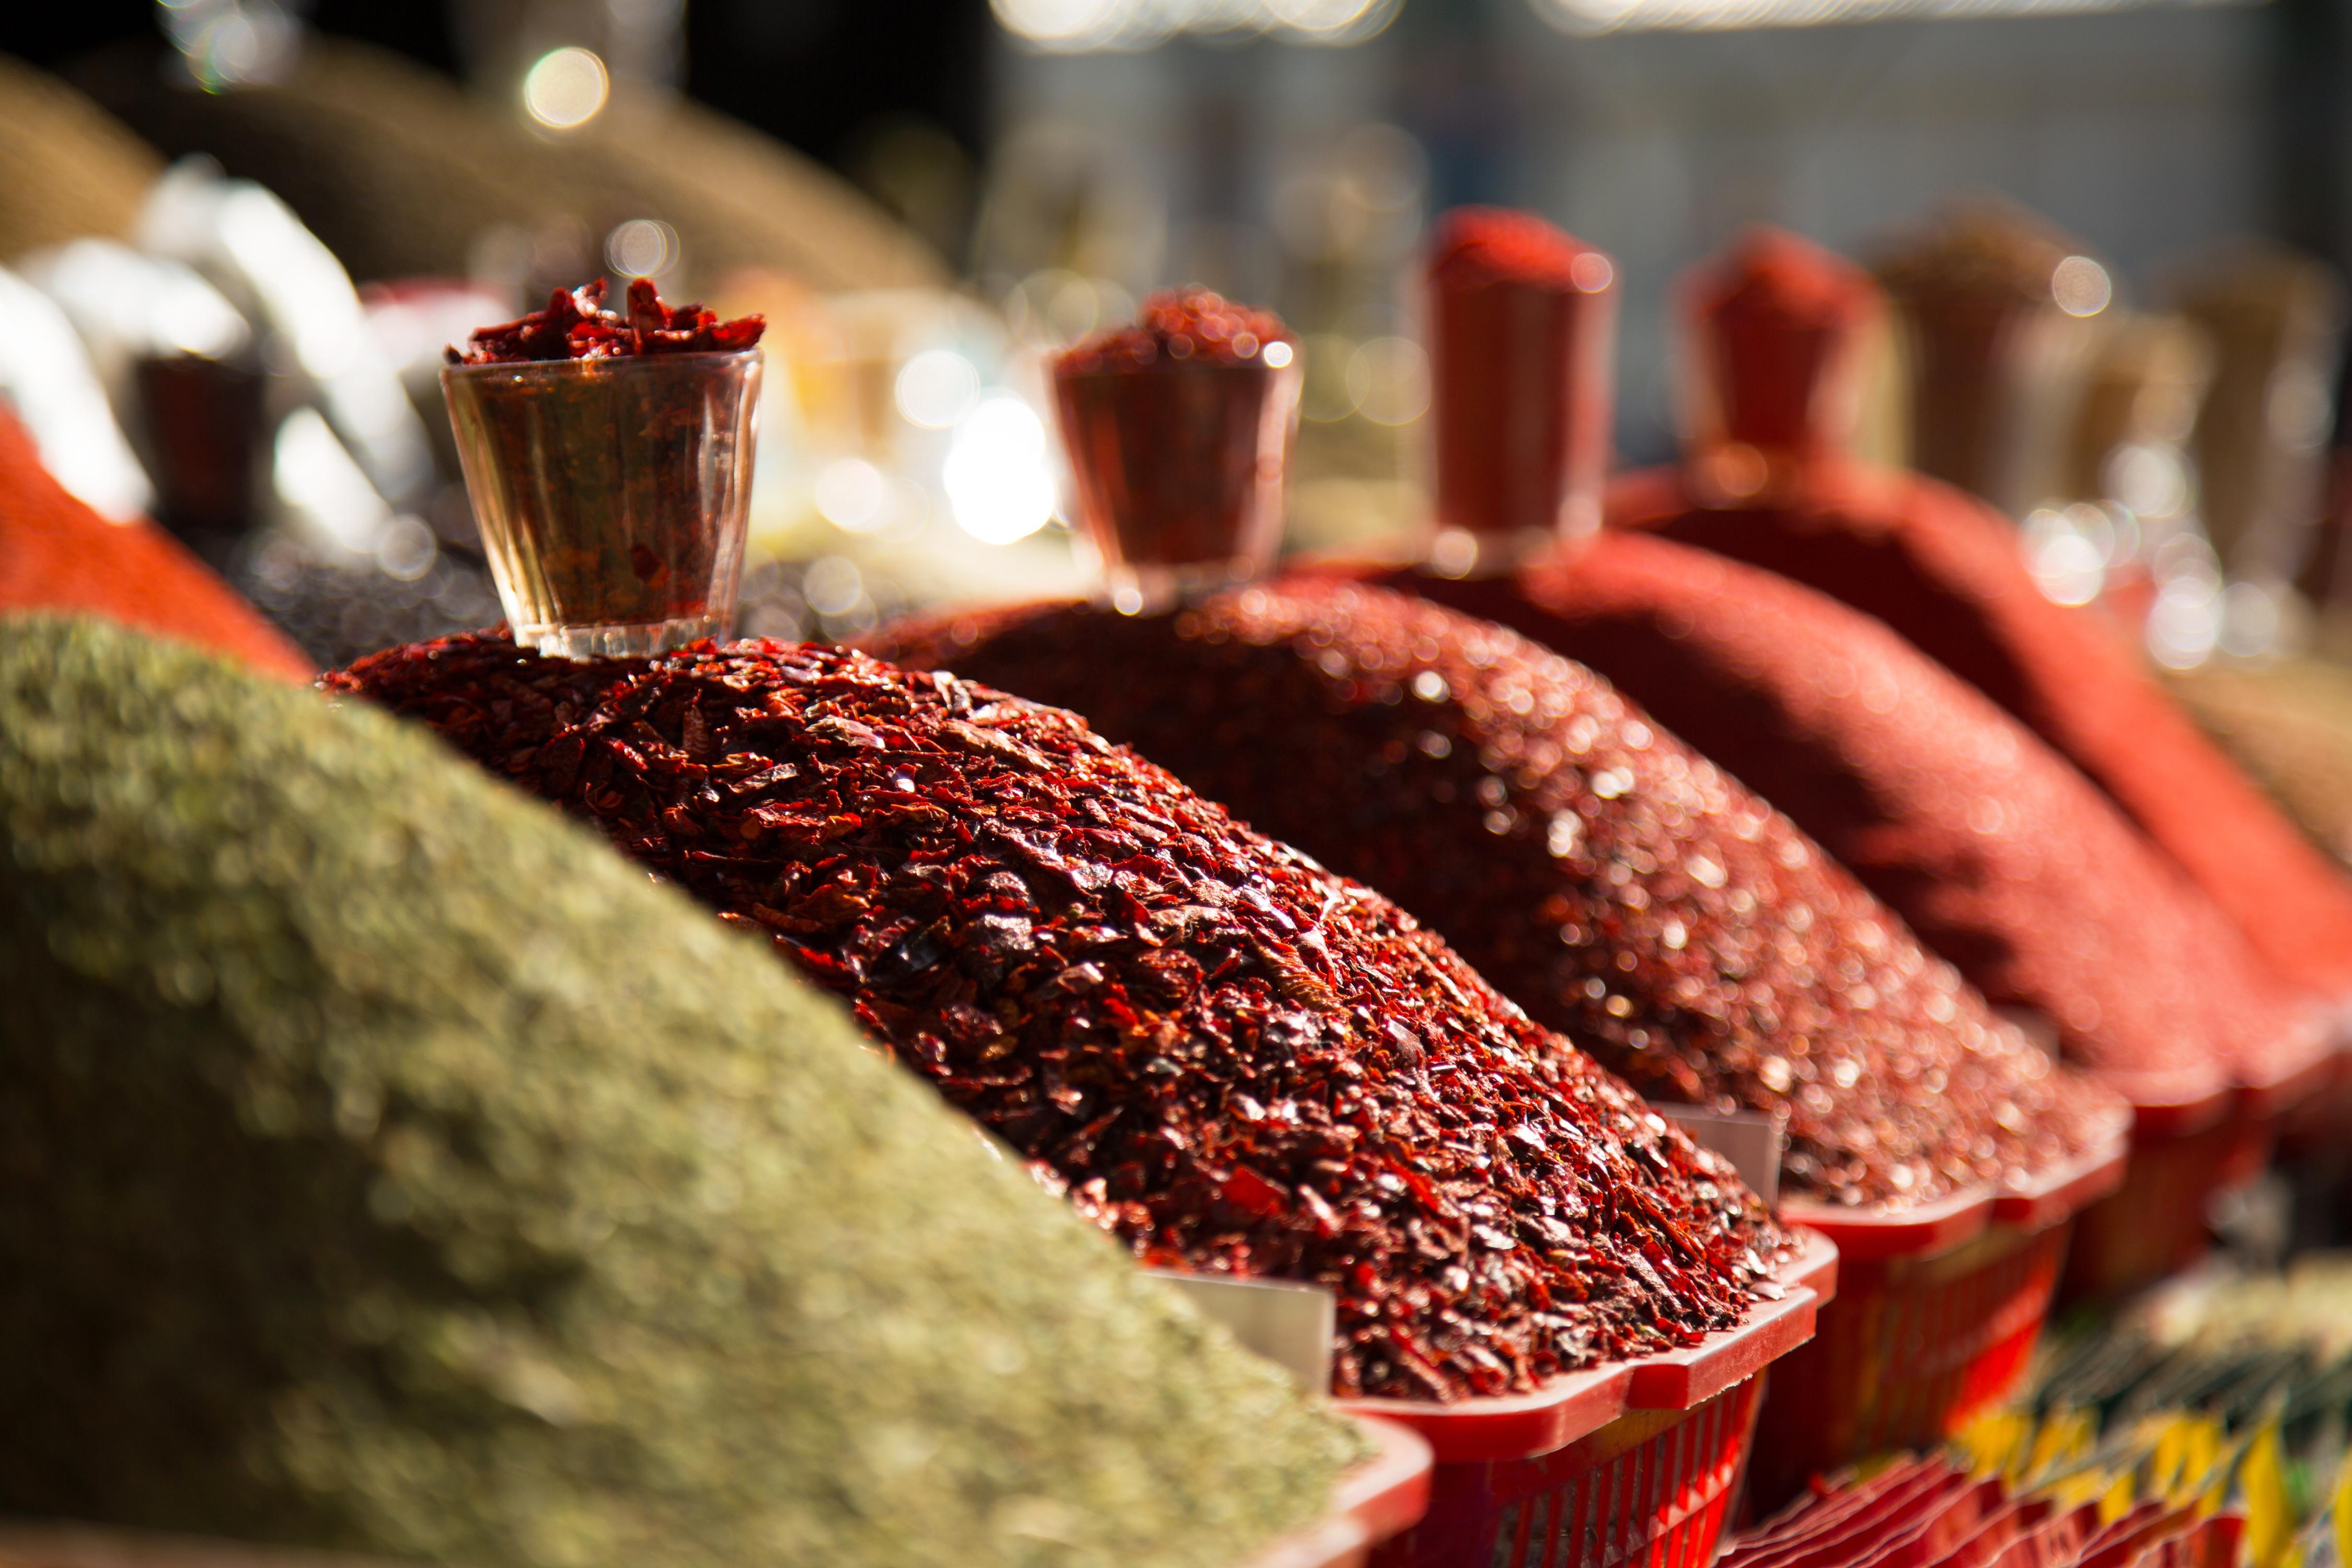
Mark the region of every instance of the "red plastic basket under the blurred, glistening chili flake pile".
[[1757, 1418], [1752, 1512], [1813, 1474], [1936, 1443], [2009, 1396], [2049, 1319], [2070, 1218], [2124, 1180], [2114, 1143], [2030, 1187], [1964, 1192], [1896, 1215], [1790, 1204], [1842, 1255], [1837, 1302], [1773, 1368]]

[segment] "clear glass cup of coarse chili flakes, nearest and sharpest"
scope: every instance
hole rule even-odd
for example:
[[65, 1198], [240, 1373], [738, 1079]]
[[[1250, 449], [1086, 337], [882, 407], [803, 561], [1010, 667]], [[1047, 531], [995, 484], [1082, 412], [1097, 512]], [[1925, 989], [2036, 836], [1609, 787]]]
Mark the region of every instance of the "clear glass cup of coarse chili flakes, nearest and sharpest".
[[515, 642], [562, 658], [724, 637], [760, 409], [755, 315], [628, 310], [602, 280], [449, 350], [442, 395]]

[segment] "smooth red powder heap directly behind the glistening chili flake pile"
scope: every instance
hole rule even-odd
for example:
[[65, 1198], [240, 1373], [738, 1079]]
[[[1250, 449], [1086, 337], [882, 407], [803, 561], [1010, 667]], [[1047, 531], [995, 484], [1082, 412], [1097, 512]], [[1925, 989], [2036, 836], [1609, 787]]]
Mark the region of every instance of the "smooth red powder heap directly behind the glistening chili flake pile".
[[2131, 1100], [2312, 1063], [2303, 1006], [2237, 929], [2086, 778], [1879, 621], [1621, 531], [1517, 578], [1418, 588], [1602, 670]]

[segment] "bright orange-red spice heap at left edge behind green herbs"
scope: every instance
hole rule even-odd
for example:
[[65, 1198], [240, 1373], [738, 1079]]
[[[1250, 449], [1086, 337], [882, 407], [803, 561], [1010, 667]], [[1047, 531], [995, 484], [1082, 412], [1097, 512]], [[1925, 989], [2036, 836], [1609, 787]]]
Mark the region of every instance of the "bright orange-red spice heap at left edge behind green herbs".
[[263, 675], [315, 665], [278, 628], [151, 522], [108, 522], [47, 468], [0, 407], [0, 611], [89, 611], [228, 654]]

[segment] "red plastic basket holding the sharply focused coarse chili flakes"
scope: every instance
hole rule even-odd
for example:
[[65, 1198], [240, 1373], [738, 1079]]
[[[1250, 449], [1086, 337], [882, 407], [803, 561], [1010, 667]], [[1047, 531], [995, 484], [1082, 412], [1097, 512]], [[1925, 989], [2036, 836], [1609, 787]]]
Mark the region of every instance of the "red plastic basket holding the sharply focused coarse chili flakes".
[[1705, 1568], [1755, 1429], [1759, 1373], [1813, 1335], [1837, 1246], [1806, 1234], [1788, 1295], [1691, 1349], [1555, 1378], [1534, 1394], [1345, 1408], [1437, 1453], [1418, 1526], [1376, 1568]]

